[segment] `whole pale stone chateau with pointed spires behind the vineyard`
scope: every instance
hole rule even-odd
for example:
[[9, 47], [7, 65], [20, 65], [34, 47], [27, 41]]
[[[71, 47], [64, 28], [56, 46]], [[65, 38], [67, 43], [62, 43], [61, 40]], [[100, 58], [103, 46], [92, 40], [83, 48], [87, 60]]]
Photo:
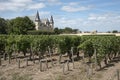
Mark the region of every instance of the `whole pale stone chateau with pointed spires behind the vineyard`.
[[53, 16], [51, 16], [50, 20], [47, 19], [40, 19], [39, 12], [35, 16], [35, 29], [42, 30], [42, 31], [53, 31], [54, 29], [54, 20]]

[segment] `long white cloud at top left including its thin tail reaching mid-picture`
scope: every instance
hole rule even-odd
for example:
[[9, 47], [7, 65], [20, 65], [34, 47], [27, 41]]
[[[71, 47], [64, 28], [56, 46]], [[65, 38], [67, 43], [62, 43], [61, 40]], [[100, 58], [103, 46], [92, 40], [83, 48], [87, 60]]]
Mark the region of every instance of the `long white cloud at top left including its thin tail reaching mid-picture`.
[[41, 9], [47, 6], [60, 5], [59, 0], [0, 0], [0, 11], [23, 11]]

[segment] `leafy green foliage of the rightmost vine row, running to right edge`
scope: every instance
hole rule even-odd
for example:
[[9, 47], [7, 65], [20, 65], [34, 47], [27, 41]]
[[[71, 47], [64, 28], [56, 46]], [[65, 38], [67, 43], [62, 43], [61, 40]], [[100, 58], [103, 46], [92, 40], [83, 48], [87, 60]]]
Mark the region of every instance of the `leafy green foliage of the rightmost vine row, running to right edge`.
[[90, 58], [92, 56], [95, 58], [94, 52], [96, 50], [98, 64], [103, 60], [107, 64], [107, 59], [111, 59], [110, 55], [119, 53], [119, 44], [120, 37], [116, 36], [82, 36], [78, 48], [84, 50], [85, 54]]

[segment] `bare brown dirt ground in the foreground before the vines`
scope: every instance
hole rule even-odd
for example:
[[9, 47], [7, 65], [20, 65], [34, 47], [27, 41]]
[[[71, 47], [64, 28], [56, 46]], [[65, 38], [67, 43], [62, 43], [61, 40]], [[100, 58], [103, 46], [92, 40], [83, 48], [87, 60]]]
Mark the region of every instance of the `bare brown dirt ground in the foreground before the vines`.
[[[2, 66], [0, 66], [0, 80], [112, 80], [116, 79], [116, 70], [120, 69], [120, 62], [111, 62], [109, 67], [105, 67], [100, 71], [95, 71], [92, 68], [88, 68], [82, 60], [78, 60], [73, 63], [69, 63], [69, 70], [67, 63], [59, 64], [58, 56], [53, 57], [56, 61], [48, 62], [48, 68], [46, 68], [45, 62], [43, 62], [43, 71], [40, 71], [39, 61], [35, 63], [28, 61], [26, 66], [26, 60], [20, 59], [20, 68], [18, 68], [18, 62], [12, 59], [11, 63], [8, 60], [2, 59]], [[64, 60], [64, 59], [62, 59]], [[19, 77], [19, 78], [17, 78]]]

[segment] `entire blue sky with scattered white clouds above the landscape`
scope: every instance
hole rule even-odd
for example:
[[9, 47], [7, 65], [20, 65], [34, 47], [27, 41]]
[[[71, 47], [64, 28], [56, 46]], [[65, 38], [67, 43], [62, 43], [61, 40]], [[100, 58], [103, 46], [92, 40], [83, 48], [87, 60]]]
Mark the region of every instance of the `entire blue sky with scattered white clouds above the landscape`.
[[0, 17], [54, 18], [55, 27], [80, 31], [120, 31], [120, 0], [0, 0]]

